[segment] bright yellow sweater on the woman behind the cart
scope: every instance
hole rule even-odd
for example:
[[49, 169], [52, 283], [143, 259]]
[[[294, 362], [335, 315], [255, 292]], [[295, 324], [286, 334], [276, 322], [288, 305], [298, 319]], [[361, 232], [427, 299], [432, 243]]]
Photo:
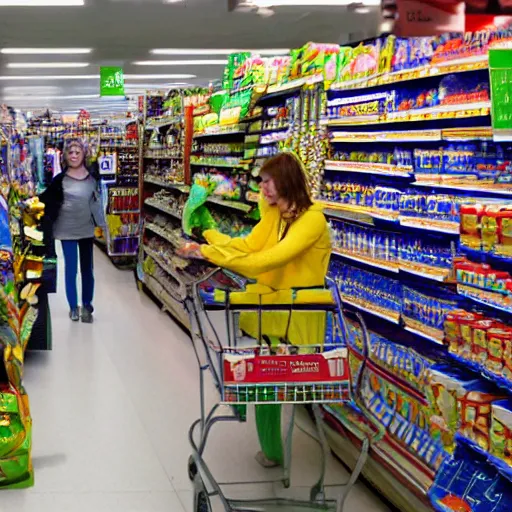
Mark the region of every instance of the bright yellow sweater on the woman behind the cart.
[[[295, 220], [286, 236], [279, 240], [281, 214], [277, 206], [261, 204], [261, 221], [246, 238], [230, 238], [215, 230], [204, 237], [210, 244], [201, 252], [210, 262], [248, 278], [256, 285], [248, 293], [265, 295], [266, 303], [282, 302], [286, 294], [278, 290], [324, 286], [329, 266], [331, 240], [322, 207], [314, 204]], [[258, 337], [258, 321], [254, 313], [241, 316], [241, 327]], [[325, 315], [322, 313], [265, 313], [262, 334], [287, 336], [295, 344], [323, 341]]]

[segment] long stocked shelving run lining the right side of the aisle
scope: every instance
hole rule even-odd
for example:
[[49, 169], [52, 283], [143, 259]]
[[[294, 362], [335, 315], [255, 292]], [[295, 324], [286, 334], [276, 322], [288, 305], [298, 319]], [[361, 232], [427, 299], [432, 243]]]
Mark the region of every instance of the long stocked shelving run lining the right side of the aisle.
[[[374, 48], [365, 50], [371, 54]], [[512, 305], [498, 303], [495, 290], [479, 289], [474, 282], [464, 281], [472, 279], [464, 270], [457, 271], [463, 257], [500, 270], [512, 268], [510, 258], [484, 254], [479, 259], [464, 248], [458, 213], [473, 200], [506, 201], [512, 188], [506, 180], [482, 183], [449, 167], [457, 162], [449, 152], [469, 151], [468, 146], [473, 154], [464, 161], [464, 171], [473, 165], [471, 158], [486, 169], [492, 170], [496, 164], [487, 151], [493, 142], [491, 104], [486, 95], [487, 57], [433, 60], [429, 65], [391, 72], [392, 54], [386, 57], [383, 53], [380, 61], [376, 59], [376, 66], [389, 64], [387, 71], [330, 86], [323, 76], [313, 75], [268, 88], [235, 87], [230, 98], [252, 90], [251, 107], [257, 108], [230, 124], [224, 124], [222, 112], [217, 125], [205, 122], [207, 127], [194, 133], [193, 113], [188, 118], [184, 114], [180, 123], [175, 112], [165, 114], [164, 119], [160, 112], [160, 119], [147, 121], [148, 130], [159, 132], [178, 124], [180, 140], [190, 146], [183, 156], [176, 147], [145, 148], [147, 169], [141, 193], [145, 224], [139, 278], [164, 309], [187, 326], [182, 301], [187, 287], [203, 271], [175, 252], [183, 242], [198, 240], [196, 234], [186, 237], [181, 230], [189, 186], [215, 184], [205, 206], [219, 218], [221, 212], [229, 212], [232, 223], [243, 223], [256, 210], [259, 194], [253, 178], [262, 163], [281, 150], [294, 151], [303, 161], [313, 196], [324, 206], [332, 226], [331, 277], [345, 305], [359, 312], [370, 328], [371, 354], [361, 379], [362, 401], [325, 407], [330, 444], [350, 465], [362, 439], [378, 424], [385, 435], [370, 449], [366, 478], [400, 510], [423, 512], [432, 510], [432, 490], [446, 471], [446, 461], [458, 462], [458, 450], [464, 447], [476, 450], [467, 437], [450, 440], [447, 432], [454, 427], [443, 416], [447, 403], [459, 400], [463, 407], [467, 400], [467, 394], [457, 395], [466, 389], [464, 379], [457, 392], [443, 389], [441, 384], [441, 393], [446, 394], [440, 406], [435, 395], [437, 373], [460, 372], [477, 389], [490, 386], [492, 393], [510, 397], [510, 382], [453, 352], [445, 321], [463, 308], [473, 313], [484, 311], [486, 317], [512, 326]], [[467, 98], [459, 94], [460, 88], [450, 97], [446, 82], [441, 86], [441, 81], [449, 78], [453, 83], [460, 77], [465, 84], [477, 86]], [[428, 94], [421, 94], [417, 104], [398, 106], [399, 99], [411, 99], [408, 91], [423, 89]], [[363, 105], [381, 99], [382, 104], [368, 109]], [[338, 111], [347, 105], [350, 108]], [[375, 113], [366, 113], [370, 111]], [[201, 113], [210, 112], [201, 108]], [[187, 142], [182, 144], [187, 148]], [[152, 159], [160, 164], [151, 164]], [[186, 165], [180, 174], [176, 171], [181, 161]], [[435, 172], [434, 161], [444, 162], [449, 172], [440, 164]], [[152, 172], [151, 165], [170, 172]], [[510, 162], [507, 165], [505, 172], [510, 173]], [[224, 229], [229, 222], [222, 223]], [[349, 321], [353, 375], [364, 359], [360, 337], [361, 330]], [[486, 410], [490, 411], [490, 406]], [[475, 417], [480, 413], [487, 414], [479, 419], [489, 425], [490, 413], [476, 408]], [[494, 456], [485, 453], [493, 466]]]

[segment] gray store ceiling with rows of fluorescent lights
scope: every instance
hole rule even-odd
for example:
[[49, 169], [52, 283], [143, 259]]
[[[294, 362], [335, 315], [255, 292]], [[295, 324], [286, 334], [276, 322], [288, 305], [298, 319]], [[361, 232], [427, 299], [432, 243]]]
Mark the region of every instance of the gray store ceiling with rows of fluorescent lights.
[[[273, 16], [264, 17], [256, 12], [228, 12], [226, 0], [164, 1], [84, 0], [82, 7], [0, 7], [0, 48], [92, 49], [79, 55], [0, 54], [0, 101], [27, 109], [114, 109], [111, 101], [94, 98], [99, 92], [100, 66], [122, 66], [128, 94], [137, 94], [135, 88], [166, 88], [176, 82], [208, 84], [221, 77], [223, 65], [140, 66], [134, 62], [225, 59], [152, 55], [154, 48], [262, 49], [294, 48], [308, 41], [344, 43], [373, 36], [379, 18], [375, 7], [365, 14], [346, 7], [277, 7]], [[55, 62], [89, 66], [10, 67]], [[141, 74], [196, 78], [133, 77]], [[88, 78], [63, 78], [69, 75]]]

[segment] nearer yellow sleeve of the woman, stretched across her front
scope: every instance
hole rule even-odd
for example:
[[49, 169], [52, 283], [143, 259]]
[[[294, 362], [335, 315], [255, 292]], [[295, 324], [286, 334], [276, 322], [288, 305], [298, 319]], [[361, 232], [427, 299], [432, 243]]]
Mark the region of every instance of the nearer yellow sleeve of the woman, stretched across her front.
[[324, 233], [325, 222], [321, 212], [306, 212], [290, 227], [286, 237], [270, 249], [247, 253], [229, 244], [202, 246], [201, 252], [215, 265], [256, 278], [265, 272], [283, 267], [310, 249]]

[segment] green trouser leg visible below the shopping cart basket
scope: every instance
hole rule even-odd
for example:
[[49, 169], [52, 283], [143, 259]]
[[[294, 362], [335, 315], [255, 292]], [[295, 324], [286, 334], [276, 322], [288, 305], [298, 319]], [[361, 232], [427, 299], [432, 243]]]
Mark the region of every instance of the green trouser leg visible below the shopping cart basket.
[[265, 457], [282, 466], [284, 453], [281, 435], [281, 406], [279, 404], [257, 405], [256, 428], [261, 451]]

